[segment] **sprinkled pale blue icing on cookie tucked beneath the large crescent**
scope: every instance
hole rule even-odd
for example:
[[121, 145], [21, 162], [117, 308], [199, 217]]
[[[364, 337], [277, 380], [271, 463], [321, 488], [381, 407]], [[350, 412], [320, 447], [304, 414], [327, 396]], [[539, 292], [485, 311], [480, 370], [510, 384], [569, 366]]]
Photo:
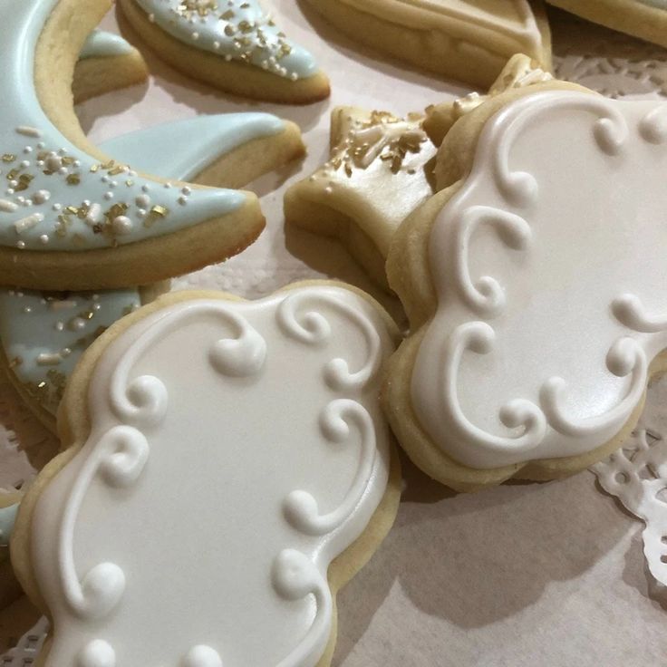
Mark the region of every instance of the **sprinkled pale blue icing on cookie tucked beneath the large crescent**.
[[48, 295], [0, 289], [0, 341], [18, 382], [55, 413], [83, 351], [140, 306], [136, 289]]

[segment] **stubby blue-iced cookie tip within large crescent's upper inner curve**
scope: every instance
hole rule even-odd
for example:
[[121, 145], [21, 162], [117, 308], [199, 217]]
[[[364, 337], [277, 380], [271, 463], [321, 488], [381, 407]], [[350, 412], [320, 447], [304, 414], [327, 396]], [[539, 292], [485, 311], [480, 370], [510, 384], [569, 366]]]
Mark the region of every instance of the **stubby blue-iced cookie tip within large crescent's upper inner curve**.
[[141, 83], [149, 71], [139, 51], [120, 35], [94, 30], [79, 52], [74, 69], [74, 103]]

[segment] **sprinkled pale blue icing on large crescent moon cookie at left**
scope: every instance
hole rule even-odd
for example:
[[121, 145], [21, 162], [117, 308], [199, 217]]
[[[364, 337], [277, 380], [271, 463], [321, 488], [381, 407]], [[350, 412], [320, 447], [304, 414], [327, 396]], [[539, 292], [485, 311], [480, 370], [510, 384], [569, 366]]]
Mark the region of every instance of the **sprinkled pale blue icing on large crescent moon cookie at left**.
[[[183, 190], [101, 165], [53, 127], [34, 90], [34, 50], [57, 0], [4, 3], [0, 246], [88, 250], [158, 237], [243, 205], [230, 189]], [[66, 35], [63, 35], [63, 39]]]

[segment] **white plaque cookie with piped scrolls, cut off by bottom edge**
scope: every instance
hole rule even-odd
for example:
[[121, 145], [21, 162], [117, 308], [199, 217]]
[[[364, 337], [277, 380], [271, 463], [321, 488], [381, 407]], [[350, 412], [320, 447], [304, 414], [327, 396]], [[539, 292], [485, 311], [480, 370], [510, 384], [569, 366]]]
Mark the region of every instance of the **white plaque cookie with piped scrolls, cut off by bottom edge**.
[[334, 283], [174, 293], [103, 333], [12, 536], [53, 620], [41, 664], [330, 664], [336, 591], [398, 509], [378, 399], [397, 335]]

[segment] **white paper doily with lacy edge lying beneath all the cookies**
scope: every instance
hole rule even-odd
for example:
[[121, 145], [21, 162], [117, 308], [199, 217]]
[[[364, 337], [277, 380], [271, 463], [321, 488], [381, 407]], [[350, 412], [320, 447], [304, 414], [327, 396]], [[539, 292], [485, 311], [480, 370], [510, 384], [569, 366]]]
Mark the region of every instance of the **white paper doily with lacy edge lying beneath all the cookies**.
[[[286, 181], [303, 178], [326, 159], [333, 104], [402, 114], [469, 91], [364, 52], [305, 3], [273, 4], [280, 23], [318, 53], [332, 74], [332, 101], [291, 108], [230, 100], [187, 82], [149, 54], [155, 80], [146, 89], [86, 103], [80, 110], [82, 125], [99, 141], [196, 113], [261, 108], [299, 123], [309, 147], [304, 164], [254, 184], [267, 213], [265, 234], [241, 256], [179, 278], [174, 288], [207, 287], [255, 298], [295, 280], [333, 276], [361, 286], [400, 316], [397, 302], [379, 294], [338, 244], [285, 232]], [[667, 52], [562, 12], [552, 16], [558, 76], [614, 97], [667, 97]], [[114, 17], [104, 25], [114, 30]], [[661, 560], [667, 551], [661, 539], [667, 534], [667, 505], [652, 475], [667, 477], [665, 405], [667, 382], [657, 383], [649, 390], [638, 435], [624, 449], [638, 452], [629, 459], [619, 454], [596, 467], [604, 488], [648, 521], [643, 536], [657, 575], [667, 567]], [[644, 432], [649, 434], [645, 440]], [[656, 440], [662, 434], [665, 438]], [[0, 488], [29, 482], [56, 449], [53, 436], [0, 380]], [[622, 468], [628, 479], [624, 484], [617, 477]], [[407, 490], [395, 529], [341, 594], [333, 665], [664, 667], [662, 607], [667, 603], [647, 585], [633, 524], [601, 494], [591, 492], [589, 473], [553, 485], [510, 484], [453, 497], [407, 461], [404, 471]], [[588, 522], [593, 510], [585, 511], [578, 501], [595, 506], [594, 520]], [[550, 513], [554, 507], [562, 513]], [[595, 530], [600, 534], [591, 536]], [[507, 533], [511, 539], [505, 539]], [[0, 656], [0, 665], [32, 664], [45, 629], [44, 621], [38, 623]]]

